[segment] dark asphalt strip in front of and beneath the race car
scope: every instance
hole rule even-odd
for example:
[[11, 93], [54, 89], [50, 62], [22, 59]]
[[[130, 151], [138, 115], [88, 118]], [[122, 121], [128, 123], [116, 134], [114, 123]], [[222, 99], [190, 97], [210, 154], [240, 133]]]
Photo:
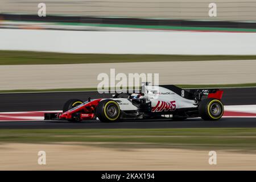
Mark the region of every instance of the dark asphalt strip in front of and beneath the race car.
[[22, 121], [0, 122], [0, 129], [167, 129], [167, 128], [217, 128], [217, 127], [256, 127], [256, 118], [221, 118], [219, 121], [187, 119], [171, 121], [170, 119], [123, 121], [102, 123], [96, 120], [71, 123], [68, 121]]

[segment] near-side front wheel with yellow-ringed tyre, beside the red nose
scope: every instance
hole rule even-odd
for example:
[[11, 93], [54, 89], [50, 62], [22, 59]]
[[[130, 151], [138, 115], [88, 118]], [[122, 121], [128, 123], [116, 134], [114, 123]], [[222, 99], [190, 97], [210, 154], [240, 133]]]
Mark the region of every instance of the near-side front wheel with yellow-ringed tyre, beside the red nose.
[[120, 113], [119, 105], [113, 100], [101, 101], [96, 109], [96, 116], [101, 122], [115, 122], [119, 119]]

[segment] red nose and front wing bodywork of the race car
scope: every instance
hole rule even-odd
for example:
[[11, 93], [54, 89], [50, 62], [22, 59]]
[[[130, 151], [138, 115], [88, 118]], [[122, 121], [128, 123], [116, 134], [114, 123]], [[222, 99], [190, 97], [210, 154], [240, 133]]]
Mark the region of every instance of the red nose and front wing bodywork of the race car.
[[90, 101], [86, 103], [83, 106], [77, 107], [77, 109], [74, 110], [68, 110], [65, 111], [64, 113], [58, 113], [57, 117], [59, 119], [72, 119], [72, 114], [73, 113], [81, 113], [80, 114], [80, 119], [85, 120], [85, 119], [92, 119], [94, 118], [94, 110], [96, 109], [98, 103], [102, 100], [102, 98]]

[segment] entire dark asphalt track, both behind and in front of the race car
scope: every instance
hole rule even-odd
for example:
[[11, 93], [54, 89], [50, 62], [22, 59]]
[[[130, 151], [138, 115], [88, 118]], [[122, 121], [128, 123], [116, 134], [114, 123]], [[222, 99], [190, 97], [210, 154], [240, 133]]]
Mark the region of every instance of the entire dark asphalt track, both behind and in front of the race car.
[[[256, 104], [256, 88], [222, 89], [224, 105]], [[52, 93], [9, 93], [0, 94], [0, 111], [35, 111], [61, 110], [65, 101], [70, 98], [87, 100], [106, 98], [111, 94], [96, 92], [52, 92]], [[221, 118], [219, 121], [203, 121], [199, 118], [185, 121], [171, 119], [131, 120], [116, 123], [84, 121], [71, 123], [68, 121], [19, 121], [0, 122], [0, 129], [160, 129], [160, 128], [202, 128], [202, 127], [256, 127], [256, 118]]]

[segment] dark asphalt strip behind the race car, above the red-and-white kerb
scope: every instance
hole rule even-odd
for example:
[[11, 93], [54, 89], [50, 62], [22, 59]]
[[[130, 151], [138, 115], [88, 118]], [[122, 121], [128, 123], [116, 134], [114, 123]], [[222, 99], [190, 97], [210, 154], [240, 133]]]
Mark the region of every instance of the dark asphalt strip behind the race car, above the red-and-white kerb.
[[[256, 104], [256, 88], [222, 89], [224, 105]], [[0, 112], [62, 110], [64, 103], [71, 98], [88, 100], [110, 98], [112, 94], [98, 92], [51, 92], [51, 93], [9, 93], [0, 94]]]

